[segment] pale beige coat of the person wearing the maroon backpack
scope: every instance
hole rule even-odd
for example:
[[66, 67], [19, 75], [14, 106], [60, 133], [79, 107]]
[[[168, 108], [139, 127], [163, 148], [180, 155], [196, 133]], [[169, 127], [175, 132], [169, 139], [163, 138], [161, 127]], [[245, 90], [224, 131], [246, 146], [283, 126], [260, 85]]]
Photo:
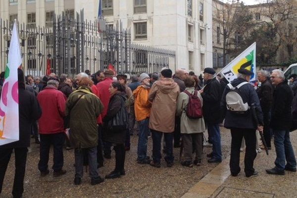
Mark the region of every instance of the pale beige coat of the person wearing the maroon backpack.
[[[194, 93], [195, 89], [193, 87], [191, 88], [186, 88], [188, 92], [191, 94]], [[198, 92], [198, 98], [201, 101], [201, 105], [203, 105], [203, 99]], [[181, 117], [181, 133], [182, 134], [193, 134], [193, 133], [202, 133], [204, 132], [205, 129], [205, 123], [204, 123], [204, 118], [199, 118], [199, 119], [190, 119], [187, 114], [185, 109], [187, 108], [189, 101], [189, 96], [185, 93], [180, 93], [177, 99], [177, 105], [176, 105], [176, 114]]]

